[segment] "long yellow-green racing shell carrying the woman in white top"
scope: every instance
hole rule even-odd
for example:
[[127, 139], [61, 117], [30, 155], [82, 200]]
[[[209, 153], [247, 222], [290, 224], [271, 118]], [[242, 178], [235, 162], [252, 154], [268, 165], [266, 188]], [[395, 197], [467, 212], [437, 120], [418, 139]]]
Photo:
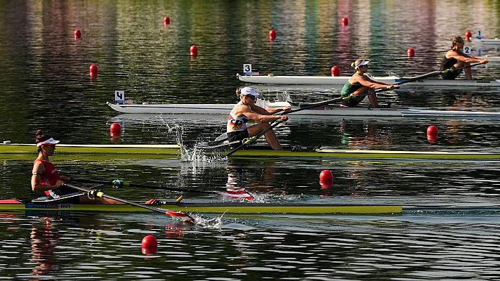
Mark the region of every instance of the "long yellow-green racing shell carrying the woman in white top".
[[[194, 149], [194, 148], [193, 148]], [[201, 149], [201, 148], [200, 148]], [[217, 151], [204, 149], [202, 153], [225, 155], [231, 147], [217, 147]], [[178, 158], [178, 145], [71, 145], [58, 144], [58, 160], [78, 159], [97, 161], [103, 159], [163, 159]], [[35, 159], [37, 148], [33, 144], [0, 144], [0, 159]], [[421, 159], [421, 160], [479, 160], [499, 161], [500, 152], [474, 151], [404, 151], [404, 150], [341, 150], [331, 148], [284, 147], [270, 150], [268, 146], [252, 145], [238, 150], [231, 157], [240, 158], [334, 158], [334, 159]]]

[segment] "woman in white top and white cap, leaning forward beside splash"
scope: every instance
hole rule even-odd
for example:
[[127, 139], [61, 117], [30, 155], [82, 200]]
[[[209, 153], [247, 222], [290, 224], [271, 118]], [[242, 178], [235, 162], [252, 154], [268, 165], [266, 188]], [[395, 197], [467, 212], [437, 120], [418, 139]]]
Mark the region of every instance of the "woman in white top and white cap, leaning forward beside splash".
[[[275, 107], [263, 108], [255, 104], [258, 93], [249, 87], [237, 89], [236, 94], [239, 95], [239, 103], [229, 113], [227, 132], [228, 141], [242, 141], [244, 138], [257, 136], [259, 133], [270, 128], [269, 122], [281, 120], [287, 121], [287, 115], [273, 115], [277, 112], [290, 112], [291, 107]], [[246, 126], [246, 122], [254, 120], [260, 124]], [[265, 134], [265, 141], [268, 142], [273, 150], [281, 150], [282, 147], [272, 130]]]

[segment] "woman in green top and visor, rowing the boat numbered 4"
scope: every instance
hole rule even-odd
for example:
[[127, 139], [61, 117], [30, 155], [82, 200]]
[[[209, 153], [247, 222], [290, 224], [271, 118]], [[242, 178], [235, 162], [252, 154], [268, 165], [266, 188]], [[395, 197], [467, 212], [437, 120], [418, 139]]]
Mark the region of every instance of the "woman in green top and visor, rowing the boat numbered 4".
[[399, 85], [390, 85], [371, 80], [366, 75], [368, 63], [369, 60], [361, 59], [351, 63], [350, 66], [354, 67], [356, 73], [349, 78], [349, 81], [347, 81], [342, 88], [342, 97], [346, 98], [341, 102], [342, 107], [354, 107], [364, 99], [366, 93], [368, 93], [371, 105], [373, 105], [373, 107], [379, 107], [379, 102], [374, 92], [376, 89], [393, 90], [400, 87]]

